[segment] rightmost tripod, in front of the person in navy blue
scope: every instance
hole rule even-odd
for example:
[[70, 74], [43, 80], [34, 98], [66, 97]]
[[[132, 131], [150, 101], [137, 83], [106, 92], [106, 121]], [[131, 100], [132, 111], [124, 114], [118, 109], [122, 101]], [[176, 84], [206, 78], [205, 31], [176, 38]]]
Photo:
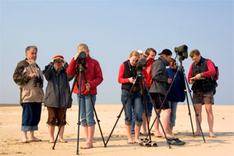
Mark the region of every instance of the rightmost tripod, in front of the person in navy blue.
[[[176, 56], [176, 57], [177, 57], [177, 56]], [[193, 109], [194, 109], [194, 112], [195, 112], [195, 114], [196, 114], [196, 119], [197, 119], [197, 122], [198, 122], [198, 125], [199, 125], [199, 128], [200, 128], [202, 137], [203, 137], [203, 141], [206, 142], [206, 141], [205, 141], [204, 134], [203, 134], [203, 131], [202, 131], [202, 128], [201, 128], [200, 121], [199, 121], [199, 119], [198, 119], [198, 114], [197, 114], [197, 111], [196, 111], [196, 108], [195, 108], [195, 105], [194, 105], [194, 102], [193, 102], [193, 99], [192, 99], [191, 90], [190, 90], [190, 88], [189, 88], [189, 84], [188, 84], [188, 81], [187, 81], [187, 79], [186, 79], [186, 75], [185, 75], [185, 73], [184, 73], [184, 67], [183, 67], [183, 65], [182, 65], [182, 60], [183, 60], [182, 56], [179, 55], [179, 59], [178, 59], [178, 60], [179, 60], [179, 62], [180, 62], [180, 65], [179, 65], [179, 67], [177, 68], [177, 71], [176, 71], [176, 74], [175, 74], [175, 76], [174, 76], [174, 78], [173, 78], [173, 80], [172, 80], [172, 83], [171, 83], [170, 87], [169, 87], [168, 90], [167, 90], [167, 93], [166, 93], [166, 96], [165, 96], [163, 102], [161, 103], [159, 112], [161, 112], [162, 105], [163, 105], [163, 103], [165, 102], [165, 100], [166, 100], [167, 97], [168, 97], [168, 94], [169, 94], [169, 92], [170, 92], [170, 90], [171, 90], [171, 88], [172, 88], [172, 85], [173, 85], [173, 83], [174, 83], [174, 81], [175, 81], [175, 79], [176, 79], [176, 77], [177, 77], [177, 75], [178, 75], [178, 72], [181, 71], [181, 72], [182, 72], [182, 76], [183, 76], [184, 86], [185, 86], [184, 92], [185, 92], [185, 97], [186, 97], [186, 101], [187, 101], [187, 106], [188, 106], [188, 111], [189, 111], [188, 115], [190, 116], [190, 122], [191, 122], [191, 127], [192, 127], [193, 136], [195, 136], [195, 135], [194, 135], [194, 129], [193, 129], [193, 122], [192, 122], [192, 117], [191, 117], [191, 111], [190, 111], [190, 107], [189, 107], [189, 98], [188, 98], [188, 92], [187, 92], [187, 90], [189, 91], [189, 97], [190, 97], [190, 99], [191, 99], [191, 101], [192, 101]], [[187, 88], [187, 89], [186, 89], [186, 88]], [[157, 117], [154, 119], [154, 121], [153, 121], [153, 123], [152, 123], [150, 129], [152, 129], [152, 127], [153, 127], [153, 125], [154, 125], [156, 119], [157, 119]]]

